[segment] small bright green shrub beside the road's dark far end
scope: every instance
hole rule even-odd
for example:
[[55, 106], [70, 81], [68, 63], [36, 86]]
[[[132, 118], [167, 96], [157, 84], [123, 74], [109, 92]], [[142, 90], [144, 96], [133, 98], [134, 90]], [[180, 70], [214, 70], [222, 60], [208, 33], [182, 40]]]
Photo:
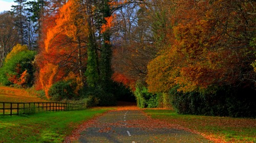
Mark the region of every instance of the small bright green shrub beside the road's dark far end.
[[157, 95], [149, 93], [147, 88], [141, 82], [137, 82], [134, 94], [137, 100], [137, 105], [140, 108], [156, 108], [158, 106]]

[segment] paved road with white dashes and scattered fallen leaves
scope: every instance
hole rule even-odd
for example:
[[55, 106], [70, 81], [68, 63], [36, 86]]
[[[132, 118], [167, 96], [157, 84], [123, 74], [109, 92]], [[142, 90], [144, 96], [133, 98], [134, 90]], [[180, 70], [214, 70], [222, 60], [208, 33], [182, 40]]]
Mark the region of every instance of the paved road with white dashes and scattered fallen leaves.
[[81, 132], [80, 142], [210, 142], [150, 119], [141, 110], [114, 110], [96, 120]]

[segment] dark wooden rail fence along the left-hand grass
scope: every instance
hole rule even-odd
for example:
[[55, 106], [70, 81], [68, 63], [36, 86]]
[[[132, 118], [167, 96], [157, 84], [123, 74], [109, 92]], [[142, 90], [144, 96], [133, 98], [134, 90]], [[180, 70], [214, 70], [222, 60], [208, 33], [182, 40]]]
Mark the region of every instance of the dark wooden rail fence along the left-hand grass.
[[86, 103], [61, 102], [0, 102], [0, 116], [32, 114], [42, 111], [65, 111], [85, 109]]

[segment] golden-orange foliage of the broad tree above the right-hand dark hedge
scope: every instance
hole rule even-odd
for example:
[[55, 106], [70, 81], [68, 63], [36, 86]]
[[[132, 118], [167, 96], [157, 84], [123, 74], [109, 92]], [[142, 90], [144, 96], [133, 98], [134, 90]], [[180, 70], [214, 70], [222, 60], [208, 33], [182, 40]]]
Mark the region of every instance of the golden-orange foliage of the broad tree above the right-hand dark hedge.
[[172, 29], [169, 45], [148, 64], [148, 89], [168, 92], [178, 85], [179, 91], [190, 92], [253, 81], [253, 68], [245, 64], [255, 59], [249, 45], [253, 18], [251, 14], [238, 15], [243, 13], [240, 6], [247, 11], [253, 7], [237, 1], [179, 2], [170, 17], [178, 18], [178, 24]]

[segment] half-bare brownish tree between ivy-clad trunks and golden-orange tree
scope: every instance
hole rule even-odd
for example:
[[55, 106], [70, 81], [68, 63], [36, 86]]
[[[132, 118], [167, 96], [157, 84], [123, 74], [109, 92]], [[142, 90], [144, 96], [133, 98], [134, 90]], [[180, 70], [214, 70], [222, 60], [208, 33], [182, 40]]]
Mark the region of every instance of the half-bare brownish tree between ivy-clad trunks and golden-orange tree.
[[120, 9], [114, 27], [113, 67], [134, 80], [146, 80], [147, 65], [169, 45], [174, 25], [170, 1], [135, 2]]

